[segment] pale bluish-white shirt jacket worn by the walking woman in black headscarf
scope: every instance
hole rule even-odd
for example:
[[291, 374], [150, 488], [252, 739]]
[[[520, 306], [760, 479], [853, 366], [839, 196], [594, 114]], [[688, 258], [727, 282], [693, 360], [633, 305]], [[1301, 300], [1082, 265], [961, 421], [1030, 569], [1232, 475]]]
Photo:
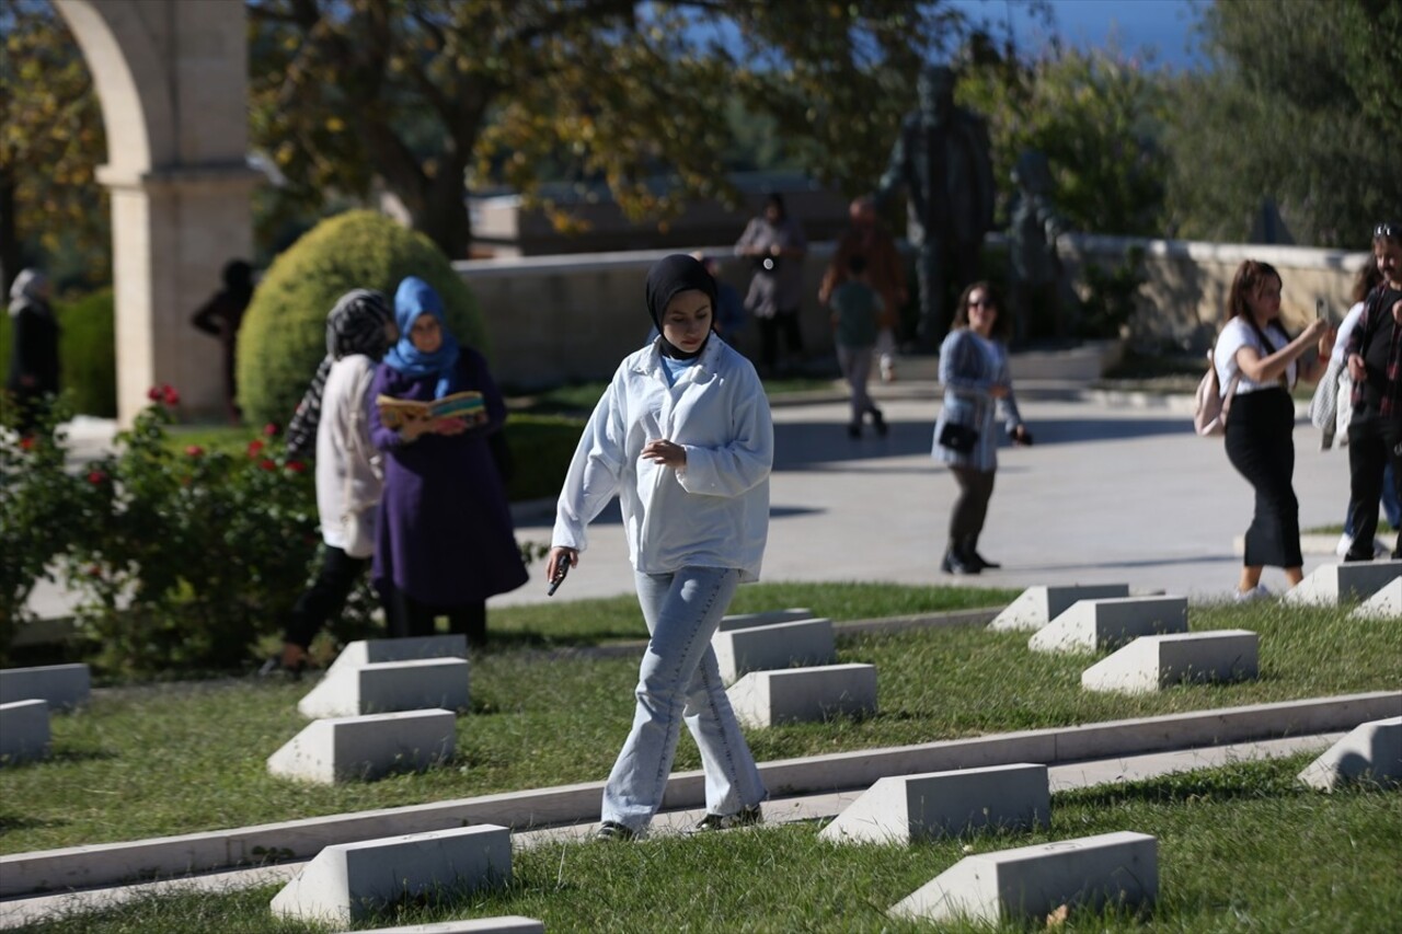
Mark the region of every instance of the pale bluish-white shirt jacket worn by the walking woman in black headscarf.
[[[641, 457], [658, 439], [686, 447], [684, 470]], [[701, 359], [667, 386], [649, 345], [618, 366], [585, 426], [551, 543], [583, 551], [585, 526], [617, 494], [638, 571], [739, 568], [742, 581], [756, 581], [773, 464], [770, 401], [747, 359], [712, 335]]]

